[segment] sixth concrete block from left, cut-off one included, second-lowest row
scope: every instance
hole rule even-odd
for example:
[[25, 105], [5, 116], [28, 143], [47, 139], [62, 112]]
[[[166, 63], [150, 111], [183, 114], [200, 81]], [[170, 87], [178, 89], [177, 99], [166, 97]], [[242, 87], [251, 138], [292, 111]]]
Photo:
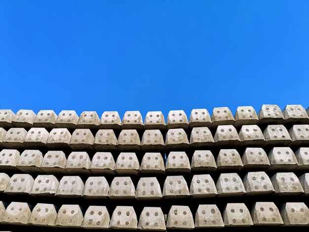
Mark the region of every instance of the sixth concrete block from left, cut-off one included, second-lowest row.
[[130, 177], [115, 177], [109, 192], [111, 199], [134, 199], [135, 187]]

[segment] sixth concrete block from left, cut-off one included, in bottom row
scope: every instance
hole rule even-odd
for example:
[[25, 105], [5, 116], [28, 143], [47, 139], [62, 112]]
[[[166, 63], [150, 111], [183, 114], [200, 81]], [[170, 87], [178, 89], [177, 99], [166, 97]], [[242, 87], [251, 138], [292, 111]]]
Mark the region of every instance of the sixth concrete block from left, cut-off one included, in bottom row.
[[116, 206], [110, 223], [115, 230], [137, 230], [137, 216], [132, 206]]

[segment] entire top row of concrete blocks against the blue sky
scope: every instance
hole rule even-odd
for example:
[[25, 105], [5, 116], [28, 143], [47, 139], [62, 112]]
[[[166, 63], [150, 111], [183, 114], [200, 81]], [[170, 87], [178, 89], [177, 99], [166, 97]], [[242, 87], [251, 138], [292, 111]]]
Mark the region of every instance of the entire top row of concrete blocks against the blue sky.
[[52, 110], [42, 110], [36, 115], [32, 110], [19, 110], [16, 115], [11, 110], [0, 110], [0, 127], [45, 127], [45, 128], [89, 128], [89, 129], [160, 129], [168, 130], [193, 127], [211, 127], [218, 125], [251, 124], [309, 124], [309, 107], [287, 105], [281, 112], [277, 105], [263, 105], [258, 114], [251, 106], [238, 107], [232, 115], [228, 107], [214, 108], [210, 117], [206, 109], [194, 109], [188, 121], [183, 110], [170, 111], [167, 122], [160, 111], [148, 112], [143, 123], [139, 111], [127, 111], [120, 120], [116, 111], [106, 111], [99, 118], [95, 111], [84, 111], [78, 117], [75, 111], [61, 111], [57, 116]]

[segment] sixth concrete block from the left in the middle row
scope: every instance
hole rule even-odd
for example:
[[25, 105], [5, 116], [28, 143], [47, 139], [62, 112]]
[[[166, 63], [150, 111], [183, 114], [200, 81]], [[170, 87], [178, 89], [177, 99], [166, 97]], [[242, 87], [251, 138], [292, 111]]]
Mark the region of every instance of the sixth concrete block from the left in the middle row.
[[118, 155], [115, 165], [118, 175], [137, 175], [139, 170], [140, 163], [135, 153], [122, 152]]

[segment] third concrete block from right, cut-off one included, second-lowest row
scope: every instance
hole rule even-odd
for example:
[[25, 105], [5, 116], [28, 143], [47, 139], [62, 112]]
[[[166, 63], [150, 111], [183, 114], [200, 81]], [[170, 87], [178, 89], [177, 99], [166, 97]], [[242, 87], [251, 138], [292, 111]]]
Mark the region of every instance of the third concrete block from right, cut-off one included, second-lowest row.
[[242, 180], [247, 195], [274, 193], [269, 176], [265, 172], [248, 172]]

